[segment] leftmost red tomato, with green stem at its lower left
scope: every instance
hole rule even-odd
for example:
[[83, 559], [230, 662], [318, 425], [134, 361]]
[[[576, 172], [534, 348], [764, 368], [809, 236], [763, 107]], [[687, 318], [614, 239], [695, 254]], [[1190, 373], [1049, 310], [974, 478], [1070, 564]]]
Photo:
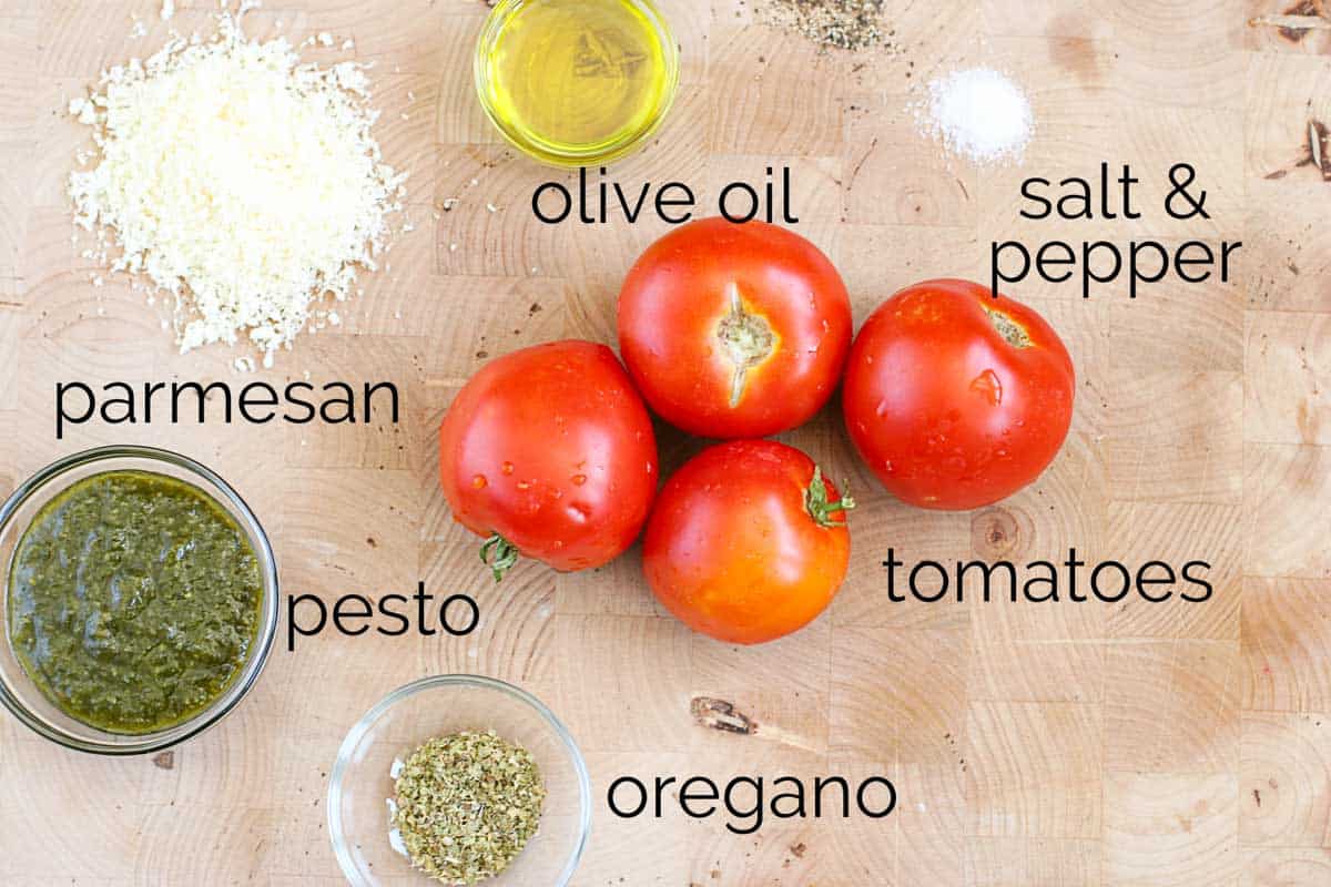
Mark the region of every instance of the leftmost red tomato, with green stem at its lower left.
[[439, 427], [443, 495], [487, 537], [480, 557], [495, 580], [519, 553], [563, 570], [620, 555], [647, 520], [656, 471], [651, 416], [614, 352], [592, 342], [491, 360]]

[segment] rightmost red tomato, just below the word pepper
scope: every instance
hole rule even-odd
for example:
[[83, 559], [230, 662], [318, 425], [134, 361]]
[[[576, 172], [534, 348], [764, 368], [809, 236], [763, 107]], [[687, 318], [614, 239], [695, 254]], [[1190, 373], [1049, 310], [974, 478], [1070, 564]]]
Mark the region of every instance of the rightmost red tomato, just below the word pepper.
[[1074, 390], [1067, 350], [1033, 310], [978, 283], [925, 281], [865, 322], [841, 399], [884, 487], [965, 509], [1040, 476], [1067, 436]]

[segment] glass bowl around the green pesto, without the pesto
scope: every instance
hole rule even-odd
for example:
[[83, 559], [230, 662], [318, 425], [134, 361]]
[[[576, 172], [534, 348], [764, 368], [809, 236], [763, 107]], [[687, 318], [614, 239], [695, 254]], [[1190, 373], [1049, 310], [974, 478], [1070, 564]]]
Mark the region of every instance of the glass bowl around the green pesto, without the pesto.
[[[43, 696], [33, 680], [28, 677], [28, 672], [15, 656], [9, 642], [9, 570], [13, 567], [19, 540], [23, 539], [28, 524], [48, 501], [76, 481], [108, 471], [142, 471], [165, 475], [206, 493], [225, 508], [245, 531], [250, 547], [254, 549], [254, 556], [258, 557], [260, 572], [264, 577], [260, 628], [245, 670], [210, 706], [188, 721], [156, 733], [109, 733], [69, 717]], [[264, 664], [268, 661], [273, 637], [277, 634], [277, 565], [268, 535], [258, 519], [254, 517], [254, 512], [216, 473], [193, 459], [165, 449], [100, 447], [73, 453], [39, 471], [23, 483], [4, 505], [0, 505], [0, 564], [4, 564], [4, 582], [0, 585], [0, 629], [4, 630], [4, 644], [0, 644], [0, 702], [25, 725], [67, 749], [113, 755], [149, 754], [198, 735], [221, 721], [254, 686], [260, 672], [264, 670]]]

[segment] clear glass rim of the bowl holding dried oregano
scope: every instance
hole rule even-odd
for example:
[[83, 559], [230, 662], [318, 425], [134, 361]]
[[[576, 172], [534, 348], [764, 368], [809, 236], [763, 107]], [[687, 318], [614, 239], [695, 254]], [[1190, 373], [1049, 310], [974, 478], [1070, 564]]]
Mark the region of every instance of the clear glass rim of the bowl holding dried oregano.
[[347, 838], [342, 832], [342, 782], [346, 779], [346, 771], [351, 763], [351, 753], [361, 743], [361, 739], [365, 738], [365, 734], [370, 730], [374, 722], [383, 717], [383, 714], [393, 709], [397, 703], [418, 693], [449, 686], [471, 686], [492, 690], [526, 703], [527, 707], [539, 714], [546, 725], [554, 730], [555, 737], [558, 737], [559, 742], [568, 753], [568, 758], [572, 761], [574, 770], [578, 774], [580, 814], [578, 826], [579, 835], [578, 846], [568, 856], [568, 862], [564, 863], [564, 870], [560, 872], [559, 880], [554, 883], [554, 887], [567, 887], [568, 882], [572, 880], [574, 874], [578, 871], [578, 863], [582, 860], [583, 852], [587, 848], [587, 840], [591, 838], [591, 774], [587, 770], [587, 761], [583, 758], [582, 749], [578, 747], [578, 742], [574, 739], [572, 733], [568, 731], [568, 727], [564, 726], [563, 721], [560, 721], [544, 702], [519, 686], [514, 686], [512, 684], [498, 678], [484, 677], [482, 674], [435, 674], [417, 678], [410, 684], [399, 686], [375, 702], [374, 706], [362, 714], [361, 718], [351, 725], [351, 729], [347, 730], [346, 737], [342, 739], [342, 745], [338, 746], [337, 758], [333, 762], [333, 771], [329, 778], [327, 801], [325, 803], [325, 813], [329, 821], [329, 840], [333, 843], [333, 852], [337, 856], [338, 866], [342, 868], [342, 875], [353, 884], [363, 883], [359, 879], [358, 870], [350, 859]]

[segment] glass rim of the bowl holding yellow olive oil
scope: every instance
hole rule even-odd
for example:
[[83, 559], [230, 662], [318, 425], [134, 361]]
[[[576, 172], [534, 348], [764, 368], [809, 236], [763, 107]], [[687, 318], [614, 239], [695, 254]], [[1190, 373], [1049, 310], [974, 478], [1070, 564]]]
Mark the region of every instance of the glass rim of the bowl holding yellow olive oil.
[[490, 81], [488, 64], [486, 60], [486, 49], [492, 48], [498, 39], [500, 25], [514, 15], [520, 7], [530, 4], [532, 0], [496, 0], [494, 7], [486, 15], [484, 23], [480, 25], [480, 32], [476, 35], [476, 44], [473, 48], [471, 55], [471, 77], [475, 84], [476, 100], [480, 104], [480, 110], [484, 112], [486, 118], [491, 125], [503, 136], [504, 142], [516, 148], [524, 156], [535, 160], [539, 164], [551, 166], [554, 169], [578, 169], [580, 166], [603, 166], [612, 164], [615, 161], [623, 160], [628, 154], [638, 150], [643, 144], [650, 140], [662, 124], [669, 116], [671, 108], [675, 106], [675, 100], [679, 94], [679, 80], [680, 80], [680, 47], [675, 37], [675, 29], [671, 27], [669, 20], [662, 13], [660, 8], [654, 3], [654, 0], [620, 0], [622, 3], [636, 7], [640, 12], [644, 12], [652, 21], [652, 31], [656, 39], [662, 44], [662, 49], [666, 53], [666, 61], [669, 66], [669, 82], [666, 100], [662, 102], [660, 109], [652, 117], [652, 120], [643, 126], [640, 130], [634, 133], [631, 137], [612, 145], [599, 153], [578, 153], [578, 152], [554, 152], [544, 148], [536, 146], [531, 142], [524, 142], [518, 138], [508, 126], [500, 122], [499, 117], [495, 114], [494, 106], [491, 105], [487, 96], [487, 84]]

